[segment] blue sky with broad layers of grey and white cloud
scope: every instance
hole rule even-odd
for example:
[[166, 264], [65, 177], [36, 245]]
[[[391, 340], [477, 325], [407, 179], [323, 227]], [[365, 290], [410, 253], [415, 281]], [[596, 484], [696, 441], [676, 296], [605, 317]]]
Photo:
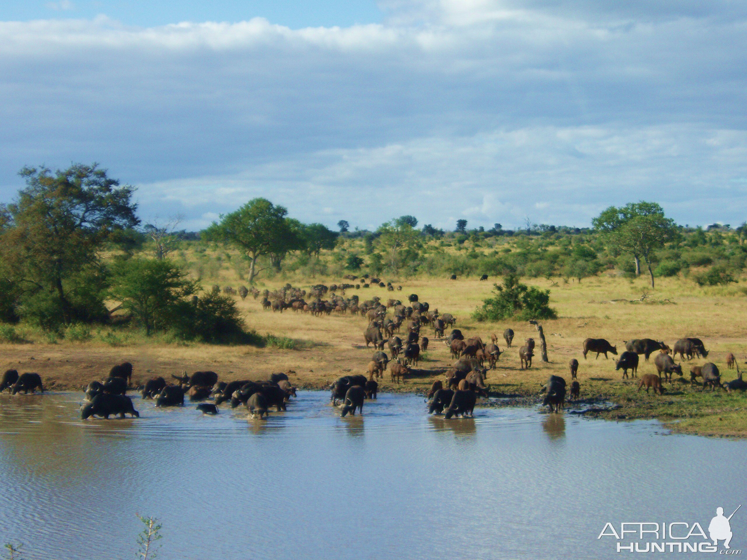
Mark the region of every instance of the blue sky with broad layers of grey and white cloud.
[[[156, 5], [154, 5], [156, 4]], [[98, 161], [143, 217], [747, 220], [747, 2], [6, 0], [0, 202]]]

